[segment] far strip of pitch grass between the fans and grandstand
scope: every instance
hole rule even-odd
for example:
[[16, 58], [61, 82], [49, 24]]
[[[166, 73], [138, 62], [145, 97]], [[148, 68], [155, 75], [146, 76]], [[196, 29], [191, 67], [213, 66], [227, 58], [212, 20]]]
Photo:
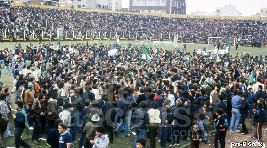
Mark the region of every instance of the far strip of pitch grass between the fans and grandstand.
[[[89, 45], [92, 44], [97, 44], [100, 45], [100, 43], [103, 43], [104, 45], [111, 45], [113, 43], [115, 43], [116, 41], [88, 41]], [[39, 42], [32, 42], [33, 46], [36, 46], [38, 48], [38, 43]], [[54, 47], [56, 47], [57, 42], [41, 42], [41, 43], [52, 43], [54, 45]], [[63, 45], [76, 45], [78, 43], [83, 43], [86, 45], [86, 40], [84, 41], [61, 41], [60, 44], [61, 46]], [[120, 41], [120, 46], [127, 48], [128, 47], [128, 43], [132, 44], [133, 46], [138, 46], [141, 47], [143, 46], [143, 44], [147, 47], [150, 48], [152, 47], [152, 41]], [[4, 48], [8, 48], [11, 50], [14, 50], [14, 46], [16, 44], [21, 44], [22, 48], [25, 49], [26, 46], [30, 46], [30, 42], [3, 42], [0, 43], [0, 49], [3, 50]], [[178, 43], [179, 44], [179, 48], [182, 51], [183, 50], [183, 44], [184, 43]], [[173, 45], [172, 42], [158, 42], [155, 41], [155, 46], [158, 48], [162, 48], [163, 50], [172, 50], [173, 51]], [[206, 47], [206, 50], [212, 50], [214, 49], [213, 45], [208, 45], [208, 44], [195, 44], [195, 43], [186, 43], [186, 52], [191, 52], [193, 53], [194, 49], [198, 50], [198, 49], [202, 49], [203, 46]], [[243, 54], [248, 53], [249, 55], [253, 55], [255, 56], [260, 56], [262, 55], [263, 57], [265, 55], [267, 55], [267, 48], [251, 48], [251, 47], [242, 47], [239, 46], [238, 50], [236, 51], [236, 48], [234, 46], [231, 46], [231, 50], [230, 50], [230, 55], [235, 56], [236, 53], [238, 53], [238, 55], [241, 54], [241, 52], [243, 52]]]

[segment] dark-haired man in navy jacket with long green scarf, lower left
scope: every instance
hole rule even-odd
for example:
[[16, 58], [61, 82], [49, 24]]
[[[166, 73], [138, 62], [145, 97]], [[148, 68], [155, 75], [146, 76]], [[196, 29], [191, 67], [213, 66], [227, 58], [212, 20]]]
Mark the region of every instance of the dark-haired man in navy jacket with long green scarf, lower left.
[[15, 126], [15, 146], [19, 148], [22, 145], [25, 148], [31, 148], [32, 146], [27, 144], [24, 140], [20, 139], [23, 129], [26, 130], [26, 135], [30, 135], [26, 110], [23, 108], [23, 102], [15, 102], [15, 109], [17, 110], [13, 115]]

